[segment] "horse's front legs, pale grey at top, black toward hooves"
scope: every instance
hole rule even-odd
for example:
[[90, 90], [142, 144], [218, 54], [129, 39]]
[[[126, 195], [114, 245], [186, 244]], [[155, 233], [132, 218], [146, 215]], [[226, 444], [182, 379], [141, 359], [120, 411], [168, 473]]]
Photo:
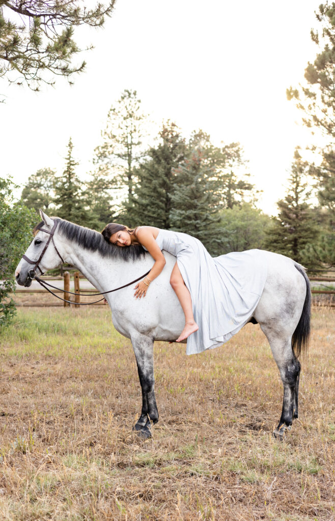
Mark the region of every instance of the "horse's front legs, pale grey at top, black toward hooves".
[[134, 430], [146, 439], [151, 437], [151, 424], [158, 421], [154, 378], [154, 341], [140, 333], [134, 334], [131, 341], [142, 388], [142, 411]]

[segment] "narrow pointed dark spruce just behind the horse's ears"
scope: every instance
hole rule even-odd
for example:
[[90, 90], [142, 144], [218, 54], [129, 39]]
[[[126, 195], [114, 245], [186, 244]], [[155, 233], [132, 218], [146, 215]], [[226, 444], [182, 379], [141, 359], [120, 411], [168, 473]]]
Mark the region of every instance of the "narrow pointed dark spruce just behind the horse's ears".
[[61, 177], [55, 181], [55, 199], [58, 206], [57, 216], [82, 226], [90, 222], [90, 212], [85, 209], [82, 196], [82, 182], [76, 175], [75, 168], [78, 165], [72, 155], [73, 144], [71, 138], [68, 143], [66, 167]]

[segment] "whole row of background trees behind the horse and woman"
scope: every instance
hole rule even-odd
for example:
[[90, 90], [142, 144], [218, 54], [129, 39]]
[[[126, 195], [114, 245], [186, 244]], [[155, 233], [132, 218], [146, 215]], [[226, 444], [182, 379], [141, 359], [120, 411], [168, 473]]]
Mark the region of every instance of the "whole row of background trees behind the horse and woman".
[[[287, 195], [278, 201], [278, 217], [271, 218], [256, 206], [260, 191], [240, 143], [214, 146], [202, 130], [187, 140], [168, 121], [150, 137], [155, 144], [145, 148], [146, 128], [137, 92], [125, 90], [109, 110], [88, 181], [76, 173], [70, 139], [63, 173], [38, 170], [24, 185], [21, 203], [97, 230], [121, 222], [182, 231], [200, 239], [212, 255], [261, 248], [314, 270], [334, 265], [327, 178], [303, 161], [298, 148]], [[309, 202], [312, 192], [318, 205]]]

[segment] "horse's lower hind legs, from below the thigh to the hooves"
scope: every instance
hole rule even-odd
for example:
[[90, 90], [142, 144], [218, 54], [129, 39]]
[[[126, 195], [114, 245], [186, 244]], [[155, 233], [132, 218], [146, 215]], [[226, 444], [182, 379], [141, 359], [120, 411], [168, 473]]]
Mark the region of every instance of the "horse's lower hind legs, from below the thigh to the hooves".
[[274, 436], [283, 438], [286, 430], [290, 430], [293, 418], [298, 417], [298, 389], [300, 362], [294, 356], [291, 346], [291, 336], [282, 337], [278, 331], [269, 326], [261, 325], [271, 346], [281, 380], [284, 387], [283, 406], [278, 427]]

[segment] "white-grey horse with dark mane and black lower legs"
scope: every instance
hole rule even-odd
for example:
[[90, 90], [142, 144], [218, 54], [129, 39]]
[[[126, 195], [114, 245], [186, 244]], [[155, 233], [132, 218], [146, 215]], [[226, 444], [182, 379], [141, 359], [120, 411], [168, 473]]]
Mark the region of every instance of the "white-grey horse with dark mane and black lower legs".
[[[140, 246], [114, 246], [94, 230], [50, 218], [43, 212], [41, 217], [43, 222], [35, 227], [35, 237], [16, 269], [16, 280], [21, 286], [30, 286], [37, 268], [44, 272], [64, 261], [79, 269], [98, 291], [106, 292], [141, 277], [153, 265], [151, 255]], [[134, 430], [144, 438], [151, 436], [151, 424], [158, 421], [154, 341], [175, 341], [184, 326], [181, 306], [169, 284], [176, 258], [166, 252], [164, 255], [165, 268], [150, 285], [145, 299], [134, 298], [134, 284], [106, 294], [115, 328], [133, 345], [142, 388], [142, 412]], [[264, 255], [268, 259], [268, 275], [249, 321], [258, 322], [265, 333], [280, 371], [284, 395], [274, 435], [282, 438], [290, 430], [293, 418], [298, 417], [301, 366], [297, 357], [307, 348], [311, 291], [302, 266], [282, 255]], [[31, 264], [35, 264], [34, 270]]]

